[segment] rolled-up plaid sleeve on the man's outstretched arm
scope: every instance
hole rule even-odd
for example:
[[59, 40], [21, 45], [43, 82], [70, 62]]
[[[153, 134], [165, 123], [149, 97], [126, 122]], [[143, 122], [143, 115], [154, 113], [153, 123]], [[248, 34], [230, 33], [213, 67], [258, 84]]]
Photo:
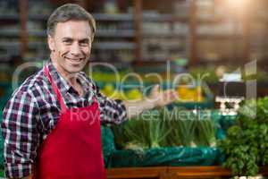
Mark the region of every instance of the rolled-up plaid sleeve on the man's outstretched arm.
[[102, 124], [121, 124], [127, 120], [127, 111], [122, 100], [105, 97], [97, 87], [96, 96], [99, 102]]

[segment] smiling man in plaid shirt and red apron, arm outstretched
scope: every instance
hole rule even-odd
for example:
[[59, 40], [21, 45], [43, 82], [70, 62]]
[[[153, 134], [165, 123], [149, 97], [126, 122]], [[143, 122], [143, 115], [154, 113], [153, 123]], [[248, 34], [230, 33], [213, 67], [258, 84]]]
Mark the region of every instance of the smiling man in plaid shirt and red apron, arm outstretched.
[[[4, 166], [9, 178], [105, 178], [100, 123], [120, 124], [132, 110], [171, 103], [173, 90], [155, 87], [149, 99], [106, 98], [81, 72], [96, 32], [92, 16], [64, 4], [47, 21], [50, 59], [24, 81], [4, 108]], [[136, 113], [136, 115], [138, 115]]]

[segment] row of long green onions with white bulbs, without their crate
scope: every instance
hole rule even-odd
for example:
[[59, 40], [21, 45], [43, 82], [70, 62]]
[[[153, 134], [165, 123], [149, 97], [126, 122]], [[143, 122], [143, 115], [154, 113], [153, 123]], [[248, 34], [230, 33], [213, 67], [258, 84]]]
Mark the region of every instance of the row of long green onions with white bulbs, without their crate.
[[214, 146], [214, 122], [192, 111], [167, 108], [147, 111], [125, 124], [113, 126], [115, 143], [121, 149], [172, 146]]

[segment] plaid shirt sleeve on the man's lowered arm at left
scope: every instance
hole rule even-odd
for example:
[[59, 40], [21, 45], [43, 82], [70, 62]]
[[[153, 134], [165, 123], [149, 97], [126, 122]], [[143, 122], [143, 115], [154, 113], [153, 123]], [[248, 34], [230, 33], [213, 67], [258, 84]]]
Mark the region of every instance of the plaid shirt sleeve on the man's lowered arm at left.
[[39, 144], [35, 98], [28, 92], [13, 94], [4, 108], [1, 127], [6, 177], [21, 178], [32, 174]]

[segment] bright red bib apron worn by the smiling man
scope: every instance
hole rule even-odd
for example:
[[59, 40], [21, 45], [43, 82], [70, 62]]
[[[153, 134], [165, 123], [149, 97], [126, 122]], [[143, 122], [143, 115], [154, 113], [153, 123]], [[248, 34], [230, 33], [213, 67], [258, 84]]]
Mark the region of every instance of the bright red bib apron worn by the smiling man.
[[39, 150], [37, 179], [105, 179], [99, 109], [67, 109], [60, 91], [45, 67], [46, 76], [61, 104], [61, 115]]

